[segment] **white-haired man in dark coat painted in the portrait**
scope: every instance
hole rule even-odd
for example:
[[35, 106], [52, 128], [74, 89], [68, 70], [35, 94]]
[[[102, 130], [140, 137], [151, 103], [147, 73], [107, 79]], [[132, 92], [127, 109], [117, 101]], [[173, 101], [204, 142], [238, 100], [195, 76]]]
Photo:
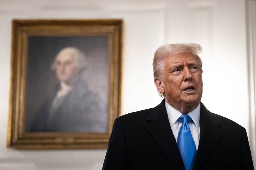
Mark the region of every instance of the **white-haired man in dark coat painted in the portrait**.
[[86, 66], [85, 56], [77, 48], [58, 53], [52, 69], [59, 84], [35, 116], [31, 132], [106, 132], [107, 107], [82, 79]]

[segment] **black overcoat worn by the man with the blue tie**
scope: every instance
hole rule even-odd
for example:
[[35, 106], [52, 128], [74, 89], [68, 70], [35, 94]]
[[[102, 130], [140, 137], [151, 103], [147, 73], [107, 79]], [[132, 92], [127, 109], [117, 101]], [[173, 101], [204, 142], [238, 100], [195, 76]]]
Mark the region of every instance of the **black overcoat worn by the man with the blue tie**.
[[[115, 120], [103, 170], [185, 170], [165, 100], [155, 108]], [[200, 141], [194, 170], [253, 170], [244, 127], [211, 113], [201, 103]]]

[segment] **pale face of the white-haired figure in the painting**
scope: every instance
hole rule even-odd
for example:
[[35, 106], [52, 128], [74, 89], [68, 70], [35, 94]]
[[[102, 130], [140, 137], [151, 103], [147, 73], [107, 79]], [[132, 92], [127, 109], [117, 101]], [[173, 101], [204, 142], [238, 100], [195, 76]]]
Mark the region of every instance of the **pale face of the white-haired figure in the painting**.
[[61, 82], [67, 84], [76, 76], [76, 64], [74, 56], [67, 51], [60, 52], [56, 58], [56, 75]]

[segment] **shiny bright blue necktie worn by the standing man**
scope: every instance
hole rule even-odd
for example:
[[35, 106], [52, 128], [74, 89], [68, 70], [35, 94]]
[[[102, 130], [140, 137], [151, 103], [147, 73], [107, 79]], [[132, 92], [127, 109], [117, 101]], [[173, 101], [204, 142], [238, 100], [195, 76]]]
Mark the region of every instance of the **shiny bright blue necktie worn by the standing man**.
[[181, 157], [186, 170], [192, 170], [196, 158], [196, 145], [192, 137], [188, 123], [191, 117], [188, 114], [182, 114], [179, 117], [182, 126], [179, 130], [177, 145], [181, 153]]

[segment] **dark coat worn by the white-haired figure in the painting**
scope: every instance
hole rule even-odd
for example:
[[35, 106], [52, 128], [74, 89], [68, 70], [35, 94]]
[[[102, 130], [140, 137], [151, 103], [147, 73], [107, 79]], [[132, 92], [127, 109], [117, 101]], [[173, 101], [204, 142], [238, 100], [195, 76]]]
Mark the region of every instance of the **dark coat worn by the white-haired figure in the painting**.
[[30, 132], [106, 132], [107, 106], [78, 79], [60, 106], [50, 114], [53, 100], [60, 89], [35, 116]]

